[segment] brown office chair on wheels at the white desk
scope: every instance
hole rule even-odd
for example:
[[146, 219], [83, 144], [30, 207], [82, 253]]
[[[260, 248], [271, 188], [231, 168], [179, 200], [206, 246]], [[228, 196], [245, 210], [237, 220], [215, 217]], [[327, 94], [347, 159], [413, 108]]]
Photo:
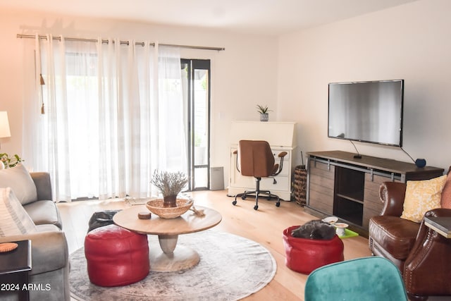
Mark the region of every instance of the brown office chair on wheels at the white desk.
[[[254, 177], [257, 180], [257, 188], [235, 195], [232, 204], [237, 204], [237, 197], [246, 199], [248, 195], [255, 196], [254, 209], [259, 209], [259, 195], [266, 195], [268, 199], [277, 199], [276, 207], [280, 206], [280, 198], [269, 190], [260, 190], [261, 178], [277, 176], [283, 168], [283, 158], [287, 152], [280, 152], [280, 164], [274, 164], [275, 159], [269, 143], [261, 140], [240, 140], [237, 150], [237, 169], [242, 176]], [[275, 181], [276, 179], [274, 179]]]

